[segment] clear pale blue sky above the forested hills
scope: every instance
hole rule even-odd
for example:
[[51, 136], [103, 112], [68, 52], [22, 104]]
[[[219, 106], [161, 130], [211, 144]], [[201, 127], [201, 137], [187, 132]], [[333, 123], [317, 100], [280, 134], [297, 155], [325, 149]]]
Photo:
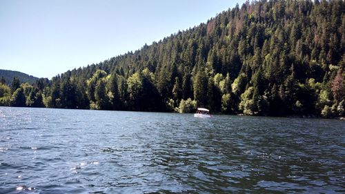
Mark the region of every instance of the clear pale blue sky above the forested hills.
[[0, 0], [0, 69], [49, 79], [137, 50], [244, 1]]

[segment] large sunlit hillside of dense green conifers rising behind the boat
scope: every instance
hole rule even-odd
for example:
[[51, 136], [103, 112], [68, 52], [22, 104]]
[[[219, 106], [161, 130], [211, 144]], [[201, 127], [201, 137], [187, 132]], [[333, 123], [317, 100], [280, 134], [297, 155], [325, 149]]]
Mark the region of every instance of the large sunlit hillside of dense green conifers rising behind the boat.
[[0, 90], [6, 106], [246, 115], [345, 113], [344, 1], [255, 1], [51, 81]]

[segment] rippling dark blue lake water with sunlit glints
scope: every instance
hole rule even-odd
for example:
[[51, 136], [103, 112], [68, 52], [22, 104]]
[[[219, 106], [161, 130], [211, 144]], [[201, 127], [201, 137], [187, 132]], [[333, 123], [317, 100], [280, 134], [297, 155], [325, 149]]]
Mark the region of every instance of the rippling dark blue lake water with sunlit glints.
[[344, 193], [345, 122], [0, 107], [0, 193]]

